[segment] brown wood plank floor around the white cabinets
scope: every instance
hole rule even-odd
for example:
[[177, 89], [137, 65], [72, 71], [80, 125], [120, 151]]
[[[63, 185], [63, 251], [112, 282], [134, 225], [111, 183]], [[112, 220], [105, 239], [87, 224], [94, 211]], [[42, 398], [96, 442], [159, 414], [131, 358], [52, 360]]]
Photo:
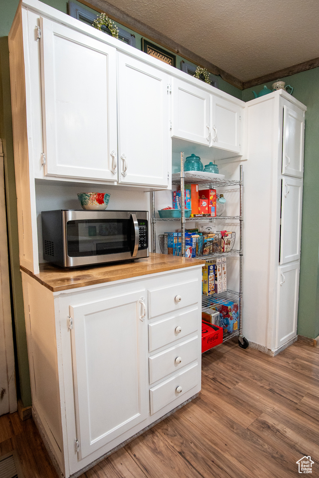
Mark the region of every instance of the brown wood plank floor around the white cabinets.
[[[289, 478], [296, 461], [319, 477], [319, 348], [296, 342], [275, 358], [222, 344], [203, 357], [199, 397], [80, 478]], [[25, 478], [57, 478], [32, 419], [0, 417], [0, 455]]]

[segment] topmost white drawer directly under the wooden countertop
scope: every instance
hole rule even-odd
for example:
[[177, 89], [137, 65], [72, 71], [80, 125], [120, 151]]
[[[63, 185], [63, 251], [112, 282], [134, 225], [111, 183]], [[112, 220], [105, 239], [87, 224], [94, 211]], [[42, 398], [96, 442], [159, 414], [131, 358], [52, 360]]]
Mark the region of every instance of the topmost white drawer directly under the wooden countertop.
[[[167, 279], [169, 281], [169, 278]], [[187, 305], [197, 304], [201, 298], [198, 279], [171, 283], [148, 290], [148, 317], [163, 315]]]

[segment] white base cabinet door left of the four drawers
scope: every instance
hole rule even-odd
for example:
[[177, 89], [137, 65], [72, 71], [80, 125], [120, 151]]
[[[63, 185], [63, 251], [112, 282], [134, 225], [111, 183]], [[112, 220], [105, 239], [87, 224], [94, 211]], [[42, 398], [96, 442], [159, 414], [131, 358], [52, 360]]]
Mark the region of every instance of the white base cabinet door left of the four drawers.
[[[145, 290], [70, 305], [79, 456], [148, 414]], [[141, 318], [143, 320], [141, 320]]]

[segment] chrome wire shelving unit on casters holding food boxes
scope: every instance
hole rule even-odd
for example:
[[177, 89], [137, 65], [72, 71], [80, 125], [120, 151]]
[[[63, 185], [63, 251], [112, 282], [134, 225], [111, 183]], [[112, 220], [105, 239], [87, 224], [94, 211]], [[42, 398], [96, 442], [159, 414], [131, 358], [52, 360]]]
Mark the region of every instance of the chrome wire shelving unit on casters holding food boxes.
[[[239, 216], [220, 216], [220, 217], [185, 217], [185, 201], [181, 201], [181, 218], [158, 218], [155, 217], [155, 192], [152, 191], [152, 231], [153, 231], [153, 252], [156, 252], [156, 222], [163, 221], [175, 221], [180, 222], [181, 224], [181, 251], [182, 256], [185, 257], [186, 247], [185, 247], [185, 224], [188, 222], [209, 222], [213, 223], [215, 221], [225, 221], [229, 219], [238, 220], [240, 226], [240, 237], [239, 237], [239, 250], [231, 250], [229, 252], [214, 253], [208, 256], [199, 256], [199, 259], [209, 261], [217, 257], [239, 257], [239, 292], [227, 290], [219, 294], [213, 295], [202, 295], [202, 311], [209, 309], [211, 304], [222, 304], [225, 301], [235, 301], [238, 303], [238, 329], [234, 330], [231, 333], [224, 332], [223, 342], [230, 340], [233, 337], [238, 337], [238, 344], [241, 348], [248, 347], [248, 340], [242, 335], [242, 226], [243, 226], [243, 217], [242, 217], [242, 165], [240, 166], [240, 179], [239, 181], [213, 178], [210, 181], [207, 178], [197, 174], [187, 173], [187, 184], [198, 184], [207, 189], [215, 189], [216, 187], [224, 186], [239, 186], [239, 196], [240, 196], [240, 214]], [[185, 171], [184, 171], [184, 152], [181, 152], [181, 172], [172, 174], [172, 185], [180, 186], [181, 198], [185, 195]]]

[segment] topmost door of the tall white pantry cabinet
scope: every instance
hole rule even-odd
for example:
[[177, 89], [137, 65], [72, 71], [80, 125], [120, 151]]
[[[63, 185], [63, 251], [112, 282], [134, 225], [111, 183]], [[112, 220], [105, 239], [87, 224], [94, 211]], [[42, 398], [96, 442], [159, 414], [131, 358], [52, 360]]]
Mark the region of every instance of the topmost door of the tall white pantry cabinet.
[[304, 112], [284, 105], [282, 172], [288, 176], [304, 174], [304, 126]]

